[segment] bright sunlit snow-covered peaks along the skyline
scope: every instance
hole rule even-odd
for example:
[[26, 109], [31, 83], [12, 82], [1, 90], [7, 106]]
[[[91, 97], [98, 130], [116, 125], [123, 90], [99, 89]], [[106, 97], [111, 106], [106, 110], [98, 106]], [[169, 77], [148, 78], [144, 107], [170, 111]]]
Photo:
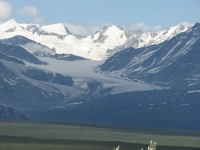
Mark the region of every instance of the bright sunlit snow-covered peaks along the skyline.
[[[158, 44], [185, 32], [190, 26], [174, 26], [160, 32], [125, 31], [122, 27], [106, 25], [93, 35], [73, 35], [63, 24], [41, 26], [38, 24], [19, 24], [11, 19], [0, 24], [0, 39], [24, 36], [46, 47], [41, 53], [73, 54], [92, 60], [104, 60], [114, 53], [133, 46], [134, 48]], [[20, 45], [20, 44], [19, 44]], [[21, 44], [33, 52], [30, 43]], [[38, 48], [37, 48], [38, 50]]]

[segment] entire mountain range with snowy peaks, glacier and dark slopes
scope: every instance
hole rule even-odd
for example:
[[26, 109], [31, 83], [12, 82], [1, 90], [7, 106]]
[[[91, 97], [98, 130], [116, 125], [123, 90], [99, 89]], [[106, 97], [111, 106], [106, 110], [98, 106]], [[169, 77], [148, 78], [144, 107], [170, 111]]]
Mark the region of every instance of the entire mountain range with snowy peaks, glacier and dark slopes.
[[199, 23], [82, 36], [11, 19], [0, 24], [0, 118], [199, 130], [199, 37]]

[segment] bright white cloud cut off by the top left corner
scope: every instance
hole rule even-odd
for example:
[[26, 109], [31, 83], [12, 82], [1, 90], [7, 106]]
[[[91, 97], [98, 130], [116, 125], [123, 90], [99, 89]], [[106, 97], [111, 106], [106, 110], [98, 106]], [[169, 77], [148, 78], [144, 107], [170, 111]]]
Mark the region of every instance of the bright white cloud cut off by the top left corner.
[[0, 0], [0, 19], [7, 19], [12, 12], [12, 4], [3, 0]]

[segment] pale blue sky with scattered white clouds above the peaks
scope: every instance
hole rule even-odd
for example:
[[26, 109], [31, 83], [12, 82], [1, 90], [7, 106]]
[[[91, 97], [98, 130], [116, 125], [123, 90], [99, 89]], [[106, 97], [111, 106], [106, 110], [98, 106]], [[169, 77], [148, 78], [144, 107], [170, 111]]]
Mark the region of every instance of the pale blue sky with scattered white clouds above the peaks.
[[0, 23], [63, 23], [89, 35], [106, 24], [125, 30], [159, 31], [200, 22], [200, 0], [0, 0]]

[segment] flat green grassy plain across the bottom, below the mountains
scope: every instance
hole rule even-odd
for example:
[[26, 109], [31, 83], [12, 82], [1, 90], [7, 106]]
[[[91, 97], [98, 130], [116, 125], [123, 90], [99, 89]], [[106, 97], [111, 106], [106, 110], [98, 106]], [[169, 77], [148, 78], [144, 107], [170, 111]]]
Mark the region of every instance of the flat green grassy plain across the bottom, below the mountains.
[[[166, 133], [166, 131], [163, 133]], [[158, 150], [200, 150], [199, 134], [173, 135], [42, 122], [0, 121], [0, 150], [121, 150], [146, 149], [149, 141], [158, 143]]]

